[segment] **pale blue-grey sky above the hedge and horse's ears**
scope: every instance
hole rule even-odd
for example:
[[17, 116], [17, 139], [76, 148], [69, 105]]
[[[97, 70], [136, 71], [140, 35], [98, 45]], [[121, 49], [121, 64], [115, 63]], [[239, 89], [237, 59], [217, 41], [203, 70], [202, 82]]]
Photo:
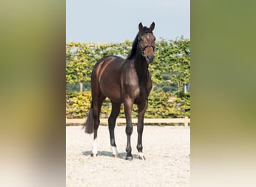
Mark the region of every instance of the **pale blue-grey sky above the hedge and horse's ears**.
[[66, 42], [134, 40], [138, 24], [156, 26], [156, 40], [190, 38], [190, 0], [67, 0]]

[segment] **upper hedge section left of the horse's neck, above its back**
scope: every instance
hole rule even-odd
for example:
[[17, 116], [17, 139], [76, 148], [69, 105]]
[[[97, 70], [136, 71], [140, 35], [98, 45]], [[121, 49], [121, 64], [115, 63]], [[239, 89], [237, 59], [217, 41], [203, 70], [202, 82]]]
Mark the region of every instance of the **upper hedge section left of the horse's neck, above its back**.
[[66, 44], [66, 83], [88, 82], [94, 64], [105, 55], [118, 55], [126, 58], [132, 43], [67, 43]]

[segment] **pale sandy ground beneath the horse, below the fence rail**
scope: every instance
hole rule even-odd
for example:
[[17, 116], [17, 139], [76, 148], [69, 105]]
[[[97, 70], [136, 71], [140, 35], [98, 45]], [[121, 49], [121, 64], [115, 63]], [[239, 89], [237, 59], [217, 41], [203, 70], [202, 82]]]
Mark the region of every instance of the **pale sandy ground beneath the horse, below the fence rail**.
[[[91, 157], [93, 135], [82, 126], [66, 127], [66, 186], [174, 186], [188, 187], [190, 178], [190, 128], [144, 126], [143, 152], [146, 161], [125, 160], [125, 126], [115, 127], [120, 158], [113, 158], [108, 126], [100, 126], [98, 154]], [[132, 132], [132, 155], [138, 151], [137, 127]]]

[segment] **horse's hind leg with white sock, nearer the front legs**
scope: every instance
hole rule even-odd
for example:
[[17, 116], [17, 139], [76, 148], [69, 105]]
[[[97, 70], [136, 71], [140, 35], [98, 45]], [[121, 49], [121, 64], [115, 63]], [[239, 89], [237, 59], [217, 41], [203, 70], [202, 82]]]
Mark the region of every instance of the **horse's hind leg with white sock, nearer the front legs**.
[[119, 153], [118, 153], [118, 149], [117, 149], [117, 145], [115, 144], [115, 123], [118, 117], [118, 114], [120, 113], [120, 108], [121, 108], [121, 104], [120, 103], [116, 103], [116, 102], [112, 102], [112, 111], [111, 114], [109, 116], [109, 136], [110, 136], [110, 145], [112, 148], [112, 155], [114, 157], [119, 157]]

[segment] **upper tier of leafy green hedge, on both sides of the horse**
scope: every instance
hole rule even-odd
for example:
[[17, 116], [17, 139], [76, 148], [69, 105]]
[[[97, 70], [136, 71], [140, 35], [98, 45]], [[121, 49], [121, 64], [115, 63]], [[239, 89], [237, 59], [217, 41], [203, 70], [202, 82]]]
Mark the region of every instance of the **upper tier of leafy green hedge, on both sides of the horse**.
[[[132, 42], [67, 43], [66, 83], [89, 82], [94, 64], [105, 55], [127, 57]], [[190, 82], [190, 41], [183, 39], [156, 41], [155, 60], [149, 66], [154, 84], [177, 84], [178, 89]], [[168, 82], [163, 79], [168, 74]]]

